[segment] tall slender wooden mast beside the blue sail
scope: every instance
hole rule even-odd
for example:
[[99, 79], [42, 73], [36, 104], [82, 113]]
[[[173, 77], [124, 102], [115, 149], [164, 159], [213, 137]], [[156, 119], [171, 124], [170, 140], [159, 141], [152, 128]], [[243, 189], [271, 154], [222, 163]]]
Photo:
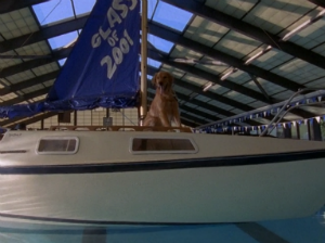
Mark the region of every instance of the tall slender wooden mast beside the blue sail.
[[141, 104], [140, 104], [140, 125], [143, 125], [143, 119], [146, 115], [146, 42], [147, 42], [147, 0], [142, 1], [142, 17], [141, 17]]

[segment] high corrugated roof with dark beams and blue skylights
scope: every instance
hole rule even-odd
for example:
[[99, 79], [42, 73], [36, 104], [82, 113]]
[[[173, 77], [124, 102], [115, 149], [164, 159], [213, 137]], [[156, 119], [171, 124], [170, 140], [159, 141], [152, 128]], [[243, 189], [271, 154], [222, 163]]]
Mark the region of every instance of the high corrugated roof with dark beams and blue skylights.
[[[0, 7], [2, 105], [44, 98], [95, 1], [12, 2]], [[164, 69], [176, 77], [190, 126], [244, 116], [304, 87], [325, 88], [324, 8], [304, 0], [148, 0], [147, 76]], [[299, 107], [285, 119], [323, 114], [322, 107]]]

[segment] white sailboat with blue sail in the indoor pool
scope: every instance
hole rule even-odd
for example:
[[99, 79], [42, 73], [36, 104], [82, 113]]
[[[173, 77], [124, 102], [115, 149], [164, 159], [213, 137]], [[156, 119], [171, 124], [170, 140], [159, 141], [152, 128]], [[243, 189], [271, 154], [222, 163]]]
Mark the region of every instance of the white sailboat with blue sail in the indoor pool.
[[[139, 0], [96, 1], [47, 101], [1, 114], [135, 105], [139, 12]], [[143, 80], [145, 68], [142, 59]], [[3, 135], [1, 222], [243, 222], [306, 217], [325, 203], [323, 142], [182, 127], [88, 128]]]

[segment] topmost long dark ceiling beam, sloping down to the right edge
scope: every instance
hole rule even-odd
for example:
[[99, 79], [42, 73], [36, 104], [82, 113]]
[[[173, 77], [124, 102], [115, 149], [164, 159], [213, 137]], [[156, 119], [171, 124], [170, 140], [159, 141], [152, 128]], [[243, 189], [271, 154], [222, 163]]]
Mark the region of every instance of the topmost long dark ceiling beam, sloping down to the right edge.
[[[307, 50], [298, 44], [288, 41], [281, 41], [281, 37], [268, 33], [266, 30], [253, 26], [247, 22], [240, 21], [231, 15], [224, 14], [221, 11], [214, 10], [207, 5], [199, 3], [198, 1], [183, 1], [183, 0], [162, 0], [169, 4], [178, 7], [180, 9], [192, 12], [198, 16], [207, 18], [213, 23], [238, 31], [245, 36], [248, 36], [255, 40], [258, 40], [262, 43], [269, 44], [273, 48], [276, 48], [281, 51], [284, 51], [290, 55], [294, 55], [298, 59], [301, 59], [306, 62], [309, 62], [315, 66], [325, 69], [325, 57], [315, 52]], [[317, 5], [324, 7], [324, 1], [311, 1]]]

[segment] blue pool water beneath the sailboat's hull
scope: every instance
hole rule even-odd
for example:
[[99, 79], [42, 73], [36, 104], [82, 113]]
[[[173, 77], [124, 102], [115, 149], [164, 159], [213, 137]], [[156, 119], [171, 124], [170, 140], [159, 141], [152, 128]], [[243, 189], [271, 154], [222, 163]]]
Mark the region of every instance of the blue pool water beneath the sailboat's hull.
[[300, 219], [244, 223], [106, 227], [0, 221], [1, 243], [325, 242], [325, 207]]

